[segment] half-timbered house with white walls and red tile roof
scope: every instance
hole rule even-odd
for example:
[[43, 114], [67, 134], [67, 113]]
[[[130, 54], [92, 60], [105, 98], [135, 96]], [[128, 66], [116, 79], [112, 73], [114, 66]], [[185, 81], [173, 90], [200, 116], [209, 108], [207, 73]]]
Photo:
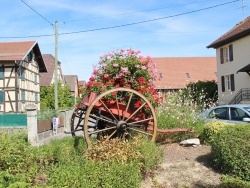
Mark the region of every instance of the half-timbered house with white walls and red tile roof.
[[0, 112], [23, 112], [27, 104], [40, 110], [39, 74], [46, 71], [36, 41], [0, 42]]

